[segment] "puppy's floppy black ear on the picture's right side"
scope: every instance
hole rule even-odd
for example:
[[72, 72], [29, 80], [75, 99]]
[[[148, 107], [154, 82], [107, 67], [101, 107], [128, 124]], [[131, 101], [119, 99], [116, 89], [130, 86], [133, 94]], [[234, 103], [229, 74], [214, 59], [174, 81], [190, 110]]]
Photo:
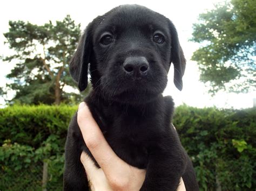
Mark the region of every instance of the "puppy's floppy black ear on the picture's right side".
[[170, 22], [171, 29], [171, 62], [174, 65], [174, 84], [180, 91], [183, 88], [182, 77], [186, 68], [186, 59], [179, 44], [178, 33], [175, 26]]

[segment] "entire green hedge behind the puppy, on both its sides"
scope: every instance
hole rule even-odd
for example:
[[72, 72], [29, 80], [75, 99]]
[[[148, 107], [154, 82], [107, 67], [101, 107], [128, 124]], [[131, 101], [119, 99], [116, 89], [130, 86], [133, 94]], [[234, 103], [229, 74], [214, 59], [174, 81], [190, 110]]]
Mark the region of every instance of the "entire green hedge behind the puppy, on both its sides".
[[[0, 190], [41, 188], [43, 161], [49, 164], [47, 189], [62, 189], [64, 143], [76, 110], [66, 105], [0, 109]], [[201, 190], [215, 190], [216, 182], [223, 190], [255, 190], [255, 108], [182, 105], [176, 109], [173, 123], [193, 161]]]

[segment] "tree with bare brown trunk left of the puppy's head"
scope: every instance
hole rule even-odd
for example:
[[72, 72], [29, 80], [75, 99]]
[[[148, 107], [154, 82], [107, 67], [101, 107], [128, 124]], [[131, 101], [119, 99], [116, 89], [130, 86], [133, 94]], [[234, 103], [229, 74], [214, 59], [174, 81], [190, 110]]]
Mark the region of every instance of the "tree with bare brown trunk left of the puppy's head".
[[80, 98], [63, 91], [65, 86], [76, 87], [68, 64], [79, 40], [80, 24], [76, 25], [68, 15], [55, 25], [51, 21], [38, 26], [19, 20], [10, 21], [9, 26], [4, 36], [14, 54], [3, 61], [17, 63], [6, 76], [13, 82], [6, 84], [2, 94], [15, 90], [10, 102], [26, 104], [59, 104]]

